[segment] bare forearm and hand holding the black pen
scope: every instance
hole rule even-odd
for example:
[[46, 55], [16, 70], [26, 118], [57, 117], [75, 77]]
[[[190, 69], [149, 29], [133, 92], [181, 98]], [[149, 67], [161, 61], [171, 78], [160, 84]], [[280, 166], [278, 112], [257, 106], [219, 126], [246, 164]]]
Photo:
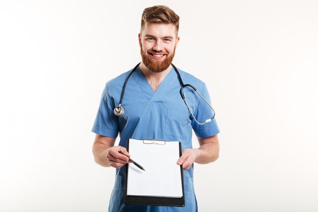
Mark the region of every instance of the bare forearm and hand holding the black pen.
[[120, 168], [129, 163], [129, 158], [119, 154], [119, 150], [129, 156], [126, 148], [122, 146], [114, 146], [116, 138], [106, 137], [96, 134], [92, 153], [97, 164], [104, 167]]

